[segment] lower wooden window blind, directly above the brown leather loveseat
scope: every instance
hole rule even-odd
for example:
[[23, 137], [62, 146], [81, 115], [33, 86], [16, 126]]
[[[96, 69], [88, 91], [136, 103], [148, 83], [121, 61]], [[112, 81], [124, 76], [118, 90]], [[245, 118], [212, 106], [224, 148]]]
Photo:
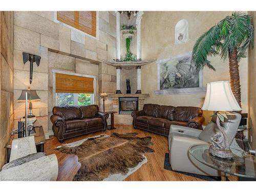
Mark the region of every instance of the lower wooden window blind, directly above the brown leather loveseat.
[[56, 93], [93, 93], [93, 78], [55, 74]]

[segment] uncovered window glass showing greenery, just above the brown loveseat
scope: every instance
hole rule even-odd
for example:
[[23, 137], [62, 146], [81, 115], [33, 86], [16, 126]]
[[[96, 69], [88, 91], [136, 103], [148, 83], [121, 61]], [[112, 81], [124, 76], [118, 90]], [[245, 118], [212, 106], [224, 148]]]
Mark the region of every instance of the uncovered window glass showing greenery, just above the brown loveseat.
[[56, 93], [57, 106], [93, 104], [90, 93]]

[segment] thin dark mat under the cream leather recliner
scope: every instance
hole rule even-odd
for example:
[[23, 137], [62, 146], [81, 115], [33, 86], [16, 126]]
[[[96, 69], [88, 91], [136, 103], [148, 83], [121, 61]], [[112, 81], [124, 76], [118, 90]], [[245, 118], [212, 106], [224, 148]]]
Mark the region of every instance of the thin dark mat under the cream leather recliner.
[[[172, 170], [173, 172], [177, 172], [176, 170], [172, 169], [172, 166], [170, 166], [169, 154], [168, 153], [165, 153], [163, 168], [166, 169], [166, 170]], [[221, 180], [221, 177], [209, 177], [209, 176], [191, 174], [191, 173], [186, 173], [186, 172], [177, 172], [177, 173], [192, 176], [192, 177], [196, 177], [196, 178], [203, 179], [203, 180], [206, 180], [206, 181], [220, 181]]]

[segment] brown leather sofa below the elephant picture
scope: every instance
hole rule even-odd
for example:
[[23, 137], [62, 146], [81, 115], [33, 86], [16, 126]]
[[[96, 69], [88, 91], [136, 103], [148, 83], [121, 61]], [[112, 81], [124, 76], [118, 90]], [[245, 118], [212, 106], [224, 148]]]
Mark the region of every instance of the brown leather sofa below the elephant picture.
[[172, 124], [202, 129], [203, 111], [195, 106], [144, 104], [142, 111], [132, 112], [135, 129], [168, 136]]

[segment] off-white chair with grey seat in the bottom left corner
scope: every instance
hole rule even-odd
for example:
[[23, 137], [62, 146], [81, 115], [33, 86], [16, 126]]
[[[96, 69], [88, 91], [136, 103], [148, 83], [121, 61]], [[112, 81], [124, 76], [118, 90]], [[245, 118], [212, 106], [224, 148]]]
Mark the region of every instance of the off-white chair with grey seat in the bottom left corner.
[[36, 153], [34, 136], [14, 139], [10, 162], [2, 167], [0, 181], [56, 181], [55, 154]]

